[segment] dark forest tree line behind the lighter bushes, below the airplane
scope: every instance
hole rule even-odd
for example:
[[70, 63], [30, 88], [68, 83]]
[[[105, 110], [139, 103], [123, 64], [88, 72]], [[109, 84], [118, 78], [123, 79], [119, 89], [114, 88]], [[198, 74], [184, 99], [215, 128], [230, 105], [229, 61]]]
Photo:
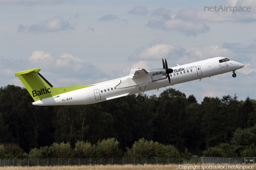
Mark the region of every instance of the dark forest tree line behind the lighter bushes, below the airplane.
[[169, 157], [171, 148], [179, 156], [255, 156], [256, 101], [249, 97], [205, 97], [199, 104], [194, 95], [168, 88], [143, 103], [130, 95], [90, 105], [33, 106], [25, 88], [8, 85], [0, 95], [1, 148], [20, 147], [19, 157], [55, 145], [69, 145], [69, 157], [77, 157], [79, 142], [90, 144], [90, 155], [98, 157], [104, 155], [98, 145], [110, 139], [118, 144], [118, 156], [134, 157], [133, 146], [141, 140], [157, 148], [157, 154], [150, 151], [156, 157]]

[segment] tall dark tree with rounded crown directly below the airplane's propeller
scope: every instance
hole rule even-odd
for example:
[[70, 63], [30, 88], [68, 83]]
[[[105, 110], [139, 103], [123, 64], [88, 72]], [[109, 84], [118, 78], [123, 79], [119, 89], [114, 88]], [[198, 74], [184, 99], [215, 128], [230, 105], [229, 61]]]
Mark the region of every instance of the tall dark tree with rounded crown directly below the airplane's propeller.
[[186, 95], [169, 88], [159, 96], [157, 141], [165, 145], [173, 144], [179, 150], [185, 149], [187, 130]]

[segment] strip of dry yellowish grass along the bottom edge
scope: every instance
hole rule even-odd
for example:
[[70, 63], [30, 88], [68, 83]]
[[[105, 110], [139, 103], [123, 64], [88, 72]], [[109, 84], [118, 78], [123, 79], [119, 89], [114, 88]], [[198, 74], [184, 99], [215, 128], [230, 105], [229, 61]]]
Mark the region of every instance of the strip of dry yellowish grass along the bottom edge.
[[[223, 167], [215, 167], [215, 166]], [[82, 165], [82, 166], [34, 166], [34, 167], [0, 167], [1, 170], [209, 170], [209, 169], [256, 169], [256, 164], [182, 164], [182, 165]], [[185, 167], [186, 166], [186, 167]], [[250, 166], [250, 167], [248, 167]], [[251, 167], [253, 166], [253, 167]]]

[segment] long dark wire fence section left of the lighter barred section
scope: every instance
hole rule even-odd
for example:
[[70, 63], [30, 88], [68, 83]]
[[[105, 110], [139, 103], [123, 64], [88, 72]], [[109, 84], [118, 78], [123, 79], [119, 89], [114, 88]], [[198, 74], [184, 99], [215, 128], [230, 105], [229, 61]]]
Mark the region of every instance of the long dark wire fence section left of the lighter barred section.
[[124, 165], [201, 163], [198, 157], [177, 158], [46, 158], [0, 159], [0, 166], [63, 166], [63, 165]]

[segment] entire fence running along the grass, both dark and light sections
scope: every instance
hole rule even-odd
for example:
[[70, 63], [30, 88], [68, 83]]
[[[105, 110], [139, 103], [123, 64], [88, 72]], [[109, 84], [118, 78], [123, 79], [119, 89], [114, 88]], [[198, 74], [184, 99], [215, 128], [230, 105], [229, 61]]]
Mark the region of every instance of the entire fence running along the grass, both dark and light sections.
[[0, 159], [0, 166], [63, 166], [63, 165], [124, 165], [124, 164], [185, 164], [185, 163], [255, 163], [256, 158], [176, 157], [176, 158], [40, 158]]

